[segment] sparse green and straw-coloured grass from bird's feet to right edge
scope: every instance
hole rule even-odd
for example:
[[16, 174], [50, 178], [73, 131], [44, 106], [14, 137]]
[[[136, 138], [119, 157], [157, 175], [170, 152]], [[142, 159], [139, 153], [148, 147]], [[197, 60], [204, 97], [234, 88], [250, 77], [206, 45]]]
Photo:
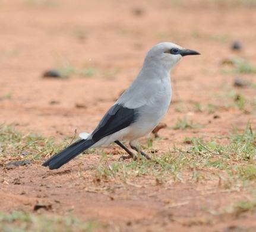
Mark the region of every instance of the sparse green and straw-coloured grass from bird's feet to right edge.
[[152, 154], [150, 161], [139, 157], [135, 161], [110, 163], [109, 157], [103, 155], [94, 170], [97, 178], [124, 182], [141, 176], [182, 180], [184, 171], [189, 171], [191, 180], [201, 181], [206, 178], [206, 173], [199, 170], [212, 170], [215, 178], [246, 185], [256, 179], [255, 139], [256, 132], [248, 123], [244, 132], [234, 131], [223, 144], [219, 139], [204, 141], [202, 138], [185, 138], [184, 147], [174, 147], [163, 155]]

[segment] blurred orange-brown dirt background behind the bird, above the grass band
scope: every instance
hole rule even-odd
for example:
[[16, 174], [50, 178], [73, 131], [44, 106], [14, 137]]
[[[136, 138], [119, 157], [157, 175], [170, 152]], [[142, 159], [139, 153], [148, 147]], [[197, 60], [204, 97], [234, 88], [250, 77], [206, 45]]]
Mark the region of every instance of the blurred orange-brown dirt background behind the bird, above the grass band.
[[244, 126], [255, 113], [255, 11], [254, 0], [1, 1], [0, 122], [46, 135], [90, 131], [147, 50], [167, 41], [202, 54], [172, 72], [167, 125], [185, 115], [215, 117], [209, 133]]

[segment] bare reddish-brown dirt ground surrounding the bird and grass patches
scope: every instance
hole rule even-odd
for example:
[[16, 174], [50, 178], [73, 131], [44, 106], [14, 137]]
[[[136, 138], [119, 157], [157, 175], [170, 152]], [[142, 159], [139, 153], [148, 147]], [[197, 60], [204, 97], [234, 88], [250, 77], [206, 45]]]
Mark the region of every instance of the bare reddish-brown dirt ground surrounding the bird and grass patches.
[[[255, 128], [255, 84], [235, 88], [233, 80], [255, 83], [256, 74], [225, 72], [221, 65], [236, 56], [256, 63], [255, 11], [240, 1], [1, 1], [0, 122], [58, 141], [75, 129], [90, 132], [135, 78], [147, 50], [169, 41], [202, 55], [184, 58], [172, 72], [167, 128], [153, 141], [157, 155], [186, 137], [227, 136], [248, 120]], [[235, 40], [242, 42], [239, 52], [230, 49]], [[49, 68], [70, 78], [42, 78]], [[86, 74], [77, 71], [82, 69]], [[245, 104], [237, 104], [237, 96]], [[204, 126], [173, 129], [184, 117]], [[210, 177], [192, 181], [192, 170], [161, 183], [150, 175], [127, 182], [98, 179], [91, 167], [100, 151], [55, 171], [40, 166], [45, 157], [30, 166], [0, 166], [0, 211], [33, 212], [36, 202], [46, 202], [51, 208], [40, 214], [94, 218], [104, 225], [99, 231], [256, 230], [253, 212], [220, 213], [246, 198], [248, 189], [225, 189]], [[115, 145], [104, 151], [114, 154], [110, 163], [124, 154]]]

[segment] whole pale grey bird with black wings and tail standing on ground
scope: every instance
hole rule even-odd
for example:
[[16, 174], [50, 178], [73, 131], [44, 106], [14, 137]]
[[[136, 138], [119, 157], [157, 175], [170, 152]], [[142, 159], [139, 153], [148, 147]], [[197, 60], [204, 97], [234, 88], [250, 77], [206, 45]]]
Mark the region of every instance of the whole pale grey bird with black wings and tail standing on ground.
[[129, 141], [132, 150], [150, 159], [138, 147], [137, 139], [153, 131], [166, 115], [172, 97], [170, 72], [182, 57], [188, 55], [200, 53], [170, 42], [153, 46], [147, 52], [135, 80], [110, 107], [97, 127], [89, 134], [80, 133], [80, 139], [42, 165], [50, 170], [59, 169], [87, 149], [113, 142], [128, 153], [122, 158], [135, 158], [134, 153], [121, 142], [123, 139]]

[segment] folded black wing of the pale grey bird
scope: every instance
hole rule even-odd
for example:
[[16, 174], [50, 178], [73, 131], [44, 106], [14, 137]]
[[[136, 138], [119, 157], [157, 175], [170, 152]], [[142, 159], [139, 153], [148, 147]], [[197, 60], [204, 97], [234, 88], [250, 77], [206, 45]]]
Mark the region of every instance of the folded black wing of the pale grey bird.
[[113, 105], [93, 131], [93, 141], [97, 142], [105, 136], [126, 128], [137, 119], [137, 115], [136, 109], [129, 109], [121, 104]]

